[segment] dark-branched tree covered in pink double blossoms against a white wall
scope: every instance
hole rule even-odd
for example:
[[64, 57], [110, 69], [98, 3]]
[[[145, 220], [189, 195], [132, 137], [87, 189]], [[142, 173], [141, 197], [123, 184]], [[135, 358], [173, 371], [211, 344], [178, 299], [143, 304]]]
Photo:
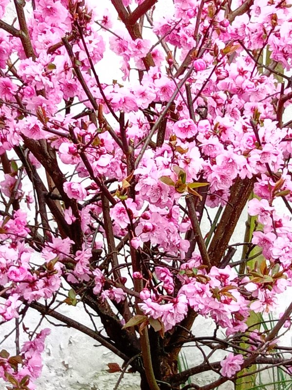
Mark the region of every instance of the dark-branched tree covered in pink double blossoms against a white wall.
[[[143, 390], [179, 389], [209, 370], [214, 382], [184, 389], [291, 369], [277, 338], [292, 303], [268, 330], [251, 318], [291, 286], [292, 1], [174, 0], [163, 17], [160, 1], [0, 3], [0, 319], [15, 323], [17, 345], [0, 352], [9, 389], [34, 389], [40, 374], [49, 330], [19, 336], [31, 309], [121, 357]], [[120, 60], [110, 83], [107, 51]], [[230, 244], [247, 202], [245, 236]], [[62, 314], [81, 304], [92, 328]], [[213, 335], [192, 333], [198, 317], [214, 321]], [[202, 360], [178, 372], [190, 342]]]

